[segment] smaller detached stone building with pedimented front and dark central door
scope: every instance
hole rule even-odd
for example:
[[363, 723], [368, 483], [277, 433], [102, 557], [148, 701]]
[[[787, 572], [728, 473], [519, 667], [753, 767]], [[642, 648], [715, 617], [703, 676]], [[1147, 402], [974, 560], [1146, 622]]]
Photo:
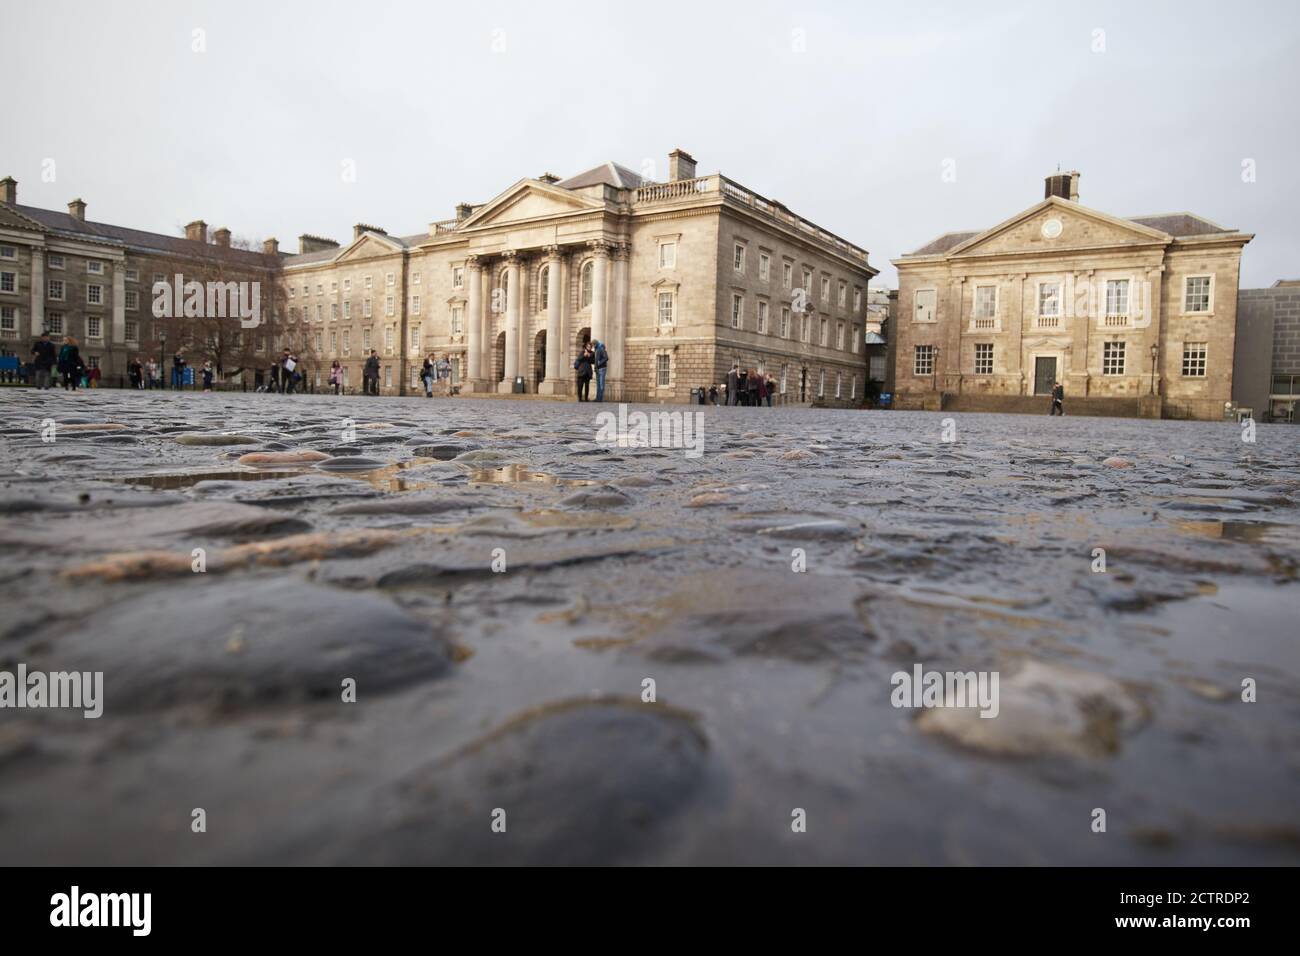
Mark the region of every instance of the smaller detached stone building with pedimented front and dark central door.
[[1079, 203], [1079, 173], [1050, 176], [1036, 206], [894, 261], [897, 403], [1043, 411], [1061, 381], [1076, 414], [1219, 419], [1252, 238], [1118, 219]]

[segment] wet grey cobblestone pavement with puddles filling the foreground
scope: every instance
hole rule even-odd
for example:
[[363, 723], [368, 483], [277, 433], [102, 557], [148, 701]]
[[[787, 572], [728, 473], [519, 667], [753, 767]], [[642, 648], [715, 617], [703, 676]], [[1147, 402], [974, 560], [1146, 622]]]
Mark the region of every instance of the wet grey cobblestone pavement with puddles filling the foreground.
[[0, 392], [0, 862], [1300, 862], [1300, 432], [599, 410]]

